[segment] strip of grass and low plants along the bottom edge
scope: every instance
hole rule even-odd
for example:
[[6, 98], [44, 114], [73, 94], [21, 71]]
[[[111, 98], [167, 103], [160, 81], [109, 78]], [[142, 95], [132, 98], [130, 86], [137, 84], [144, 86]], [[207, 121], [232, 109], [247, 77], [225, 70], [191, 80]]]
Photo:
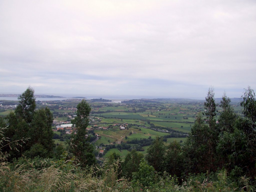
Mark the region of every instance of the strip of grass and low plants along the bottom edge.
[[[18, 164], [21, 163], [21, 164]], [[188, 177], [179, 184], [175, 177], [157, 174], [145, 162], [140, 164], [134, 179], [119, 179], [117, 161], [109, 166], [81, 169], [72, 161], [51, 159], [41, 161], [20, 159], [15, 164], [2, 163], [0, 167], [1, 191], [254, 191], [245, 177], [239, 188], [225, 170], [215, 174]], [[209, 177], [210, 176], [210, 177]], [[214, 180], [214, 181], [212, 181]]]

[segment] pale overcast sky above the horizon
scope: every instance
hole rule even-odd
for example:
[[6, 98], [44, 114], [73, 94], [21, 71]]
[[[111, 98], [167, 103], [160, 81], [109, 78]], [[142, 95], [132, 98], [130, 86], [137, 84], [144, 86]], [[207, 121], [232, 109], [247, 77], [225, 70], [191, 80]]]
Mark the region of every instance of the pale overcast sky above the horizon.
[[0, 93], [232, 98], [255, 72], [255, 0], [0, 0]]

